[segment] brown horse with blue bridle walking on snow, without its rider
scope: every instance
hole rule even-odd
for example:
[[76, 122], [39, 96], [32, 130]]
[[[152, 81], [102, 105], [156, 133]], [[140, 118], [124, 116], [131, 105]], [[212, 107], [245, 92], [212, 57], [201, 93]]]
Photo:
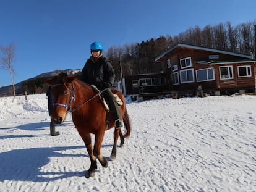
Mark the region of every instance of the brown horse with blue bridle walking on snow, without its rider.
[[[72, 120], [75, 128], [82, 137], [90, 156], [91, 165], [86, 177], [93, 177], [97, 169], [96, 159], [103, 167], [108, 167], [108, 161], [101, 154], [101, 144], [106, 130], [114, 127], [114, 119], [111, 112], [109, 113], [100, 99], [100, 93], [96, 93], [92, 86], [83, 83], [75, 78], [76, 75], [67, 75], [60, 73], [58, 76], [46, 80], [53, 94], [54, 107], [52, 118], [56, 123], [64, 122], [67, 112], [72, 113]], [[114, 144], [111, 151], [111, 159], [116, 157], [116, 146], [119, 135], [121, 136], [121, 146], [124, 145], [124, 138], [130, 136], [131, 127], [129, 115], [126, 111], [126, 100], [123, 94], [112, 89], [117, 94], [123, 104], [119, 107], [121, 119], [124, 122], [124, 136], [120, 129], [114, 130]], [[90, 133], [95, 135], [95, 144], [92, 146]]]

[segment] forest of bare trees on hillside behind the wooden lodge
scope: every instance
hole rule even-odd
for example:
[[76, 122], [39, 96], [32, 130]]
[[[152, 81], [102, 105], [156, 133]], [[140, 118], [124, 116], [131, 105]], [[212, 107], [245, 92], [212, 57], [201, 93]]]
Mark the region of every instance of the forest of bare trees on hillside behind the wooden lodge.
[[195, 26], [173, 37], [166, 35], [141, 43], [111, 46], [105, 56], [112, 61], [116, 80], [121, 79], [121, 64], [123, 76], [157, 73], [163, 70], [163, 66], [155, 64], [154, 60], [176, 43], [239, 52], [255, 58], [255, 26], [256, 20], [236, 26], [231, 22], [207, 25], [203, 28]]

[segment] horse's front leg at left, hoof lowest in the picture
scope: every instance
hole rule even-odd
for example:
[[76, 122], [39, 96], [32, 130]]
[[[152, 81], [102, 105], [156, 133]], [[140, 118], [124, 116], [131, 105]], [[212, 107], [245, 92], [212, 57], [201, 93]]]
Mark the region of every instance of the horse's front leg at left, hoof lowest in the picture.
[[[79, 130], [78, 130], [79, 131]], [[82, 137], [83, 142], [85, 143], [85, 146], [87, 148], [87, 152], [90, 157], [91, 165], [90, 168], [87, 171], [87, 175], [85, 177], [94, 177], [95, 175], [95, 169], [97, 169], [97, 162], [96, 157], [93, 155], [93, 146], [92, 146], [92, 139], [89, 134], [83, 134], [81, 131], [79, 131], [79, 135]]]

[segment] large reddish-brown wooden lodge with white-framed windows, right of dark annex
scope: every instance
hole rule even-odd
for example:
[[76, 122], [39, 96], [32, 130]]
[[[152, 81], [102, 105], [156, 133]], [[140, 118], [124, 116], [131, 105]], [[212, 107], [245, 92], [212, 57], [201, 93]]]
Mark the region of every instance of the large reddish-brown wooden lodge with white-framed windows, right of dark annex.
[[177, 43], [155, 59], [165, 64], [170, 91], [195, 93], [255, 92], [256, 59], [218, 49]]

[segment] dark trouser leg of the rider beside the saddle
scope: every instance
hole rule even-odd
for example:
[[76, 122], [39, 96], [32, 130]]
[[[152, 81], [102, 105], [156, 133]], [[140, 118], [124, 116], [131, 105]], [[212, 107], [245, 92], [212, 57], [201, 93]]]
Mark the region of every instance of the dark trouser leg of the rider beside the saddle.
[[119, 107], [116, 101], [116, 97], [114, 94], [111, 92], [110, 88], [107, 88], [105, 91], [102, 92], [103, 98], [106, 98], [110, 110], [113, 112], [114, 119], [119, 119], [120, 118], [120, 111]]

